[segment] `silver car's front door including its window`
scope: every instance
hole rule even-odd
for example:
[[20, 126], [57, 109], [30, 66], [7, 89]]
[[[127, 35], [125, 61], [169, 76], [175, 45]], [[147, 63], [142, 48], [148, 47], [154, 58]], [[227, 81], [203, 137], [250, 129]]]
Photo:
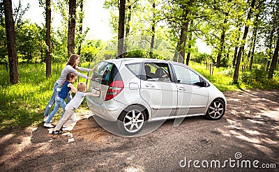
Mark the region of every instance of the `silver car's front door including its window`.
[[[208, 87], [199, 75], [186, 65], [173, 64], [177, 87], [177, 116], [204, 114]], [[204, 84], [204, 85], [202, 85]]]

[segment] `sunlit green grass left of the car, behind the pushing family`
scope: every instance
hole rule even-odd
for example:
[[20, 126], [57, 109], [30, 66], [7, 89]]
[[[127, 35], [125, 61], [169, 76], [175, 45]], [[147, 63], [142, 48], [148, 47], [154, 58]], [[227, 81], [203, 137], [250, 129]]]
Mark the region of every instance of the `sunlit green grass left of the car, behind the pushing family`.
[[[20, 83], [15, 85], [9, 84], [6, 66], [0, 65], [0, 131], [10, 127], [38, 125], [43, 121], [43, 113], [52, 96], [52, 88], [65, 65], [53, 63], [52, 77], [46, 79], [45, 64], [20, 63]], [[88, 63], [83, 63], [82, 67], [88, 68]], [[85, 82], [86, 79], [79, 78], [79, 81]], [[76, 84], [77, 82], [75, 87]], [[61, 112], [59, 109], [59, 115], [56, 115], [54, 120], [60, 118]]]

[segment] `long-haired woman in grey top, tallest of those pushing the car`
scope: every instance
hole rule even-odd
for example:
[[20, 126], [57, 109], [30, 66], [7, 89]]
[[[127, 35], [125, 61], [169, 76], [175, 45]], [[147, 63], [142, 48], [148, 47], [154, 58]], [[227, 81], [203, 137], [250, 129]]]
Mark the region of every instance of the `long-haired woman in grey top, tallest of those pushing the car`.
[[[59, 79], [57, 79], [55, 84], [54, 84], [52, 97], [51, 97], [50, 101], [47, 103], [47, 107], [45, 108], [44, 121], [47, 120], [47, 116], [50, 114], [50, 109], [52, 108], [52, 105], [55, 102], [55, 97], [59, 93], [59, 91], [61, 90], [63, 84], [65, 83], [66, 76], [68, 75], [68, 73], [72, 72], [75, 75], [83, 77], [85, 79], [91, 79], [92, 78], [92, 77], [87, 77], [86, 75], [83, 75], [80, 72], [77, 72], [77, 70], [86, 71], [86, 72], [94, 71], [96, 69], [96, 66], [94, 66], [93, 69], [80, 68], [80, 67], [77, 66], [79, 63], [80, 63], [80, 55], [73, 54], [73, 55], [70, 56], [70, 58], [68, 60], [68, 63], [66, 64], [65, 68], [63, 68]], [[68, 93], [67, 103], [70, 102], [70, 100], [72, 100], [72, 96], [70, 95], [70, 93]]]

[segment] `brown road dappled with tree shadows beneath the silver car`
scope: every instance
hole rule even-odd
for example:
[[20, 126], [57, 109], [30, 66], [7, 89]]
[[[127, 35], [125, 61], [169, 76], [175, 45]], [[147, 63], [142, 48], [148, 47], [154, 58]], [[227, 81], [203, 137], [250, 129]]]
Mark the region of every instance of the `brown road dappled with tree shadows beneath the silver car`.
[[167, 120], [135, 138], [110, 134], [90, 114], [63, 136], [43, 123], [2, 132], [0, 171], [279, 171], [279, 91], [225, 96], [218, 121]]

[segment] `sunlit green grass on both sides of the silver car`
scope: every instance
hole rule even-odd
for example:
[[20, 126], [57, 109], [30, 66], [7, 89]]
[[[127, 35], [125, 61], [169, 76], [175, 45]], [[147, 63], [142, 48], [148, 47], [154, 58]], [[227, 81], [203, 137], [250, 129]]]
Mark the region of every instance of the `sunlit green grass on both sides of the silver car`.
[[[52, 64], [52, 77], [45, 78], [45, 64], [19, 64], [20, 83], [16, 85], [9, 84], [9, 75], [5, 65], [0, 65], [0, 131], [10, 127], [27, 127], [38, 125], [43, 121], [43, 113], [47, 102], [52, 96], [52, 87], [56, 79], [59, 78], [62, 68], [65, 64]], [[88, 68], [89, 63], [83, 63], [82, 67]], [[273, 80], [266, 78], [257, 78], [252, 72], [241, 73], [239, 85], [232, 84], [233, 68], [214, 68], [213, 75], [206, 69], [205, 65], [199, 63], [190, 63], [200, 74], [209, 79], [220, 91], [239, 91], [239, 88], [264, 88], [279, 89], [278, 73]], [[84, 73], [84, 72], [83, 72]], [[256, 77], [255, 77], [256, 76]], [[241, 78], [243, 78], [242, 82]], [[86, 81], [79, 78], [79, 81]], [[74, 84], [76, 86], [77, 82]], [[86, 109], [84, 100], [83, 111]], [[58, 114], [61, 114], [61, 109]], [[54, 120], [58, 120], [56, 115]]]

